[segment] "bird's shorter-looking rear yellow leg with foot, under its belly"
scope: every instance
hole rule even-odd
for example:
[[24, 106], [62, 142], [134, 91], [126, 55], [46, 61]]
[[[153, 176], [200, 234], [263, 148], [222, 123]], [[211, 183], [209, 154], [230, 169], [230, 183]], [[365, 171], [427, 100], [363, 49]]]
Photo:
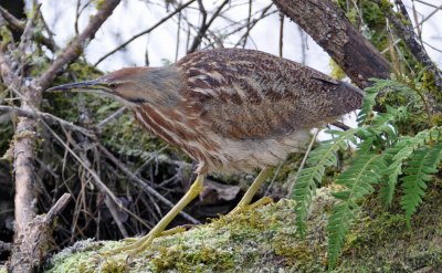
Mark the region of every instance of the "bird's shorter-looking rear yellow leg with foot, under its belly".
[[272, 172], [272, 168], [264, 168], [261, 170], [260, 175], [255, 178], [253, 183], [250, 186], [248, 191], [245, 191], [244, 196], [242, 197], [241, 201], [236, 204], [236, 207], [230, 212], [231, 214], [244, 211], [245, 209], [255, 208], [261, 204], [272, 202], [270, 197], [263, 197], [262, 199], [257, 200], [254, 203], [250, 203], [255, 196], [256, 191], [260, 190], [262, 183]]

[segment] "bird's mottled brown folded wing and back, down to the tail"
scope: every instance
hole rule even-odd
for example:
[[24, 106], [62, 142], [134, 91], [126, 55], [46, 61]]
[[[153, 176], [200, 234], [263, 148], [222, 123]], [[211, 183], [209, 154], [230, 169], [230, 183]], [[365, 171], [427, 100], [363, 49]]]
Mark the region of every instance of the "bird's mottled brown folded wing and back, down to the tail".
[[266, 138], [314, 127], [359, 107], [349, 84], [259, 51], [220, 49], [177, 63], [185, 97], [212, 130], [234, 139]]

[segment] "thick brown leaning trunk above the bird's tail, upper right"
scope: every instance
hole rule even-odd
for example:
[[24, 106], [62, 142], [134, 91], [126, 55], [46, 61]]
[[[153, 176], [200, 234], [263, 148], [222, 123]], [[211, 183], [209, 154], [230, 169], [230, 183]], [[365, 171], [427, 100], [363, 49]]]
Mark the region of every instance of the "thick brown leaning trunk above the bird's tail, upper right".
[[273, 0], [307, 32], [360, 88], [370, 77], [387, 78], [390, 65], [332, 0]]

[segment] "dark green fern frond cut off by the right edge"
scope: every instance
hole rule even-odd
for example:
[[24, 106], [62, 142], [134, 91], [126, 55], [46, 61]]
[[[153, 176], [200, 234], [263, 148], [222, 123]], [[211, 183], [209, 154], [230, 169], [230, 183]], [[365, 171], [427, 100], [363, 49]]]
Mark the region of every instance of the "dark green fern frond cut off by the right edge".
[[442, 144], [434, 147], [422, 147], [413, 153], [403, 172], [402, 180], [403, 196], [401, 198], [402, 209], [406, 211], [407, 225], [411, 228], [411, 216], [422, 202], [425, 193], [427, 182], [431, 180], [431, 175], [438, 171], [438, 166], [442, 158]]

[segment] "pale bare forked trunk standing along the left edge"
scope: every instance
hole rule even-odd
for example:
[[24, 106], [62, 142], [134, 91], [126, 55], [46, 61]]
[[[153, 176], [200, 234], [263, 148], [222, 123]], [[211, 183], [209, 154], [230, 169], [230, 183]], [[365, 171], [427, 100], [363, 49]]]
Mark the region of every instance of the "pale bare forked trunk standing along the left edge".
[[[21, 99], [20, 109], [35, 112], [39, 109], [42, 92], [48, 88], [59, 72], [66, 64], [72, 63], [82, 53], [83, 48], [91, 41], [99, 27], [113, 13], [120, 0], [108, 0], [98, 12], [91, 18], [85, 30], [69, 44], [54, 60], [52, 65], [30, 86], [22, 81], [24, 75], [15, 73], [14, 60], [9, 57], [3, 49], [0, 52], [0, 74], [4, 84], [11, 88]], [[32, 34], [32, 19], [29, 19], [23, 31], [19, 49], [29, 48]], [[14, 134], [14, 172], [15, 172], [15, 237], [12, 256], [9, 262], [11, 272], [33, 272], [41, 265], [42, 258], [49, 250], [51, 240], [51, 225], [41, 225], [40, 218], [35, 213], [35, 185], [34, 185], [34, 158], [36, 145], [36, 120], [29, 117], [20, 117]], [[43, 224], [43, 223], [42, 223]], [[41, 230], [35, 231], [35, 227]], [[39, 228], [40, 227], [40, 228]], [[35, 232], [38, 232], [35, 234]]]

